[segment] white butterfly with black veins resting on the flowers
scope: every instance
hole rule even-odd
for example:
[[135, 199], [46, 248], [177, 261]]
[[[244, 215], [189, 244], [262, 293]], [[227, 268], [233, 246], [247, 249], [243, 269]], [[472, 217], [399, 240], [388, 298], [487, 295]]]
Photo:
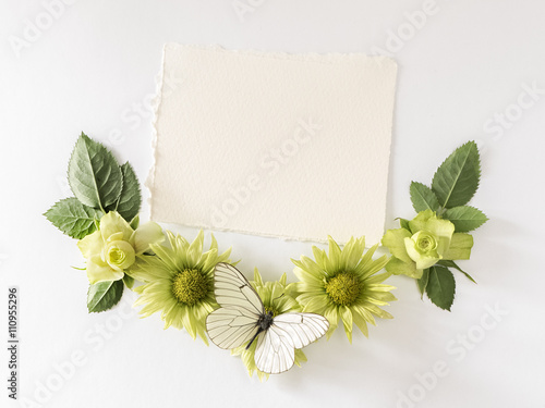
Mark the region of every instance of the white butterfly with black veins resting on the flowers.
[[206, 318], [208, 336], [220, 348], [231, 349], [257, 337], [255, 364], [259, 371], [278, 374], [292, 368], [295, 348], [317, 341], [329, 329], [326, 318], [314, 313], [265, 312], [259, 295], [234, 267], [218, 263], [214, 294], [221, 306]]

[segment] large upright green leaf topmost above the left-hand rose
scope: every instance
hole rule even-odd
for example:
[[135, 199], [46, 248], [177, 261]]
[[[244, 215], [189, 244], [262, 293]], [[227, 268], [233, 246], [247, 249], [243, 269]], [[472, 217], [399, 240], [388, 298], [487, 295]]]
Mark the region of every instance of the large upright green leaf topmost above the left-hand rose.
[[69, 184], [84, 205], [105, 209], [123, 188], [121, 169], [113, 154], [82, 133], [69, 163]]

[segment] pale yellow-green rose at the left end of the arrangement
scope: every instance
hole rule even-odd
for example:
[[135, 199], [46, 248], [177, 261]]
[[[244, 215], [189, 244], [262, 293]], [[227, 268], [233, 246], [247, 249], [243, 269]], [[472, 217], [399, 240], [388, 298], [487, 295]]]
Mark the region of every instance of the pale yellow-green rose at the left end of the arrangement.
[[162, 230], [155, 222], [133, 230], [118, 212], [110, 211], [100, 219], [99, 228], [81, 239], [77, 247], [87, 259], [89, 282], [95, 284], [123, 279], [136, 258], [164, 239]]

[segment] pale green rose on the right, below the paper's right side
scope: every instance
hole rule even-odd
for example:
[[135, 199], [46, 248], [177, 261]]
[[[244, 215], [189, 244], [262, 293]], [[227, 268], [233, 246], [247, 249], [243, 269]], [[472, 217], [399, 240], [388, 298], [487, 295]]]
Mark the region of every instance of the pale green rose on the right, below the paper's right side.
[[409, 221], [408, 227], [388, 230], [383, 245], [392, 255], [386, 265], [388, 272], [420, 279], [425, 269], [441, 259], [470, 259], [473, 237], [455, 233], [455, 224], [425, 210]]

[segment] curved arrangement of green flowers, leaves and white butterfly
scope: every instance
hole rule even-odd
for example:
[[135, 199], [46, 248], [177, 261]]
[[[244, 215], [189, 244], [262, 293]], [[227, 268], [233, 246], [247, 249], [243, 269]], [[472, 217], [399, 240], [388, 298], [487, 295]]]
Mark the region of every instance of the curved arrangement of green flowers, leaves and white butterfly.
[[[264, 282], [258, 270], [249, 282], [220, 254], [211, 235], [190, 243], [162, 231], [155, 222], [140, 223], [142, 196], [129, 163], [119, 165], [105, 146], [82, 134], [69, 162], [74, 197], [58, 201], [44, 215], [60, 231], [78, 239], [89, 280], [87, 308], [101, 312], [116, 306], [124, 288], [138, 294], [142, 317], [160, 312], [165, 329], [185, 330], [208, 345], [240, 356], [250, 375], [259, 380], [306, 361], [302, 348], [329, 336], [342, 322], [352, 342], [354, 324], [368, 336], [375, 317], [391, 319], [380, 307], [396, 300], [391, 274], [416, 281], [421, 296], [450, 310], [455, 299], [455, 261], [470, 259], [469, 232], [487, 221], [468, 206], [479, 188], [479, 149], [469, 141], [452, 152], [435, 173], [432, 185], [412, 182], [411, 200], [417, 212], [399, 219], [400, 227], [382, 239], [390, 257], [374, 259], [378, 244], [365, 250], [365, 238], [351, 238], [342, 248], [329, 237], [326, 252], [313, 246], [314, 259], [292, 260], [299, 282], [286, 273]], [[135, 285], [135, 283], [138, 285]]]

